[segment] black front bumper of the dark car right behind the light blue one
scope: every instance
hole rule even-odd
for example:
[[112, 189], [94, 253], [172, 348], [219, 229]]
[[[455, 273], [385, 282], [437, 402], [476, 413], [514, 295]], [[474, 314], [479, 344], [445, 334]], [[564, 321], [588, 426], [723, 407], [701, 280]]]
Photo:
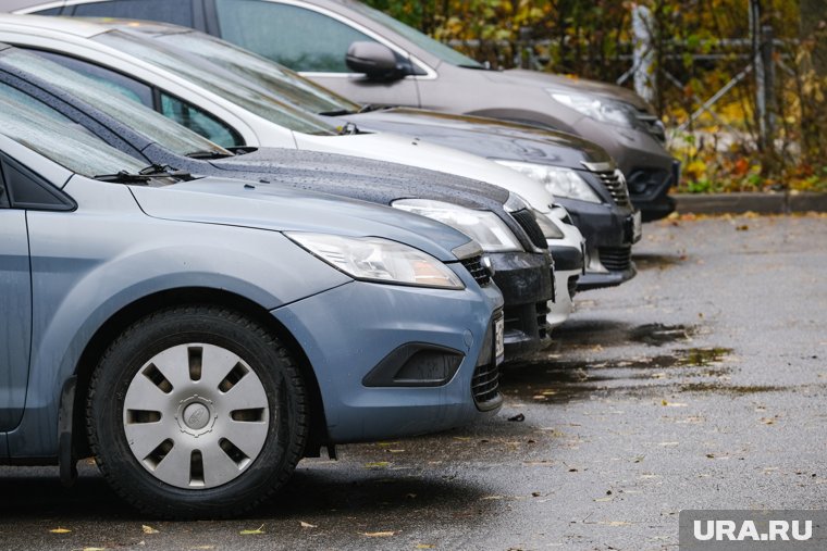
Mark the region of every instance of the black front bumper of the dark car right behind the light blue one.
[[518, 360], [548, 345], [546, 303], [554, 298], [553, 270], [545, 254], [507, 252], [487, 256], [505, 301], [505, 358]]

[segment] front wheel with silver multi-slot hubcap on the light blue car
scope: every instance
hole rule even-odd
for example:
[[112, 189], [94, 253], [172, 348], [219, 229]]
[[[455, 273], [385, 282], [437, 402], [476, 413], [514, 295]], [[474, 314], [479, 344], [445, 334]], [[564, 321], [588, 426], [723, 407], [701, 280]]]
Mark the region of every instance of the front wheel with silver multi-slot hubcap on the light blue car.
[[304, 454], [305, 387], [280, 340], [215, 306], [151, 314], [96, 367], [89, 443], [111, 486], [161, 517], [240, 514]]

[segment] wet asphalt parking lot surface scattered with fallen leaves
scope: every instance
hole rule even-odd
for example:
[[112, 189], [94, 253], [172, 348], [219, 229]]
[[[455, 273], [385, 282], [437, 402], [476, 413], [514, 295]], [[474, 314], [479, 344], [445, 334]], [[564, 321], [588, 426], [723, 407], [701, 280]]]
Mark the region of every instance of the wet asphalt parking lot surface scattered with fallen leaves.
[[827, 509], [827, 217], [647, 224], [635, 261], [492, 422], [341, 447], [230, 522], [138, 514], [88, 464], [71, 489], [2, 467], [0, 549], [664, 550], [682, 509]]

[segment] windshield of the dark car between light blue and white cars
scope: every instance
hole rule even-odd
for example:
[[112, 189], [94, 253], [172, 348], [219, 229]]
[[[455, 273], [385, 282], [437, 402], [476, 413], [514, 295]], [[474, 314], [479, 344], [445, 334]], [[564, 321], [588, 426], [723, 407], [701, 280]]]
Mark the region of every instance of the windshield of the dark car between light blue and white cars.
[[96, 107], [112, 118], [121, 121], [148, 139], [181, 155], [209, 152], [217, 156], [233, 153], [202, 138], [156, 111], [134, 101], [108, 80], [87, 77], [53, 63], [40, 55], [12, 50], [1, 58], [4, 65], [13, 66], [50, 83]]

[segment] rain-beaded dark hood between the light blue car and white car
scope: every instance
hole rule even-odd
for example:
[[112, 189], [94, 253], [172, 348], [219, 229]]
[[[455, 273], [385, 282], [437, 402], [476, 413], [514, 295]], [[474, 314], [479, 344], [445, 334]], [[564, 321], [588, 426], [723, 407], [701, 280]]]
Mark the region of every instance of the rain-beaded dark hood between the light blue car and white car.
[[[496, 210], [508, 191], [489, 184], [424, 168], [357, 156], [260, 148], [251, 153], [210, 161], [217, 168], [245, 173], [294, 188], [390, 204], [397, 199], [449, 201], [469, 209]], [[227, 176], [231, 176], [227, 174]]]

